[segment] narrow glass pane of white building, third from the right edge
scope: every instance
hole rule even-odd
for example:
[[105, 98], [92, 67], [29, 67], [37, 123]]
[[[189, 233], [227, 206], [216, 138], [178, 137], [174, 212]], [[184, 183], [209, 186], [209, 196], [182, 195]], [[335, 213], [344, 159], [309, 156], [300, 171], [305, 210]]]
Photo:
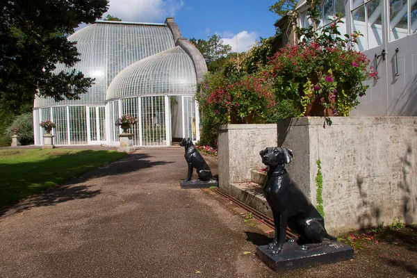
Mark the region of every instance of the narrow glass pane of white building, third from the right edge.
[[368, 49], [382, 45], [382, 4], [373, 0], [366, 4], [368, 10]]

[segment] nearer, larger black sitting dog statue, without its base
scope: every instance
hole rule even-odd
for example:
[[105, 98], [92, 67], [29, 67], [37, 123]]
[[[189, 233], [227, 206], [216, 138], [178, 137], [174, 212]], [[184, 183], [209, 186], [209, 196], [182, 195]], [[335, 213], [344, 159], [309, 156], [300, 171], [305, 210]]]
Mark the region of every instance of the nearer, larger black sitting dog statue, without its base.
[[281, 253], [287, 225], [300, 235], [297, 243], [304, 247], [320, 244], [324, 238], [337, 240], [327, 234], [325, 220], [287, 174], [284, 165], [292, 161], [293, 152], [285, 147], [267, 147], [259, 154], [262, 163], [269, 166], [263, 193], [275, 222], [275, 238], [268, 245], [268, 250], [272, 254]]

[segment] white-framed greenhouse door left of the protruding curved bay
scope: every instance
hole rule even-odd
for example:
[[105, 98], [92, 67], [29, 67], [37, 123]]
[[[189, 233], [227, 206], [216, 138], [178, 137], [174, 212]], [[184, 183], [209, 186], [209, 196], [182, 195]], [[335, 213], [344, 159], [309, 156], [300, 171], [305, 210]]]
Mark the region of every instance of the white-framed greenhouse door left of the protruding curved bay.
[[88, 144], [99, 145], [106, 142], [104, 107], [88, 107], [87, 138]]

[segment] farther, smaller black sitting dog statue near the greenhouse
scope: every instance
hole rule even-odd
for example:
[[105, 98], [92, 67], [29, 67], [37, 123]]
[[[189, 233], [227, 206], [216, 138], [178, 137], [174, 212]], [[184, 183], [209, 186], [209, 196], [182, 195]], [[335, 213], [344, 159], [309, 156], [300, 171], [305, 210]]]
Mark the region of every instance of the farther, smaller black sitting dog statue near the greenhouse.
[[199, 152], [195, 148], [193, 141], [188, 137], [183, 138], [183, 140], [181, 140], [179, 145], [186, 149], [186, 154], [184, 156], [186, 157], [186, 161], [188, 164], [188, 175], [187, 175], [187, 179], [184, 179], [184, 181], [191, 180], [191, 177], [193, 177], [193, 168], [197, 170], [199, 180], [208, 181], [208, 180], [213, 179], [213, 175], [211, 174], [210, 167], [208, 167], [202, 155], [199, 154]]

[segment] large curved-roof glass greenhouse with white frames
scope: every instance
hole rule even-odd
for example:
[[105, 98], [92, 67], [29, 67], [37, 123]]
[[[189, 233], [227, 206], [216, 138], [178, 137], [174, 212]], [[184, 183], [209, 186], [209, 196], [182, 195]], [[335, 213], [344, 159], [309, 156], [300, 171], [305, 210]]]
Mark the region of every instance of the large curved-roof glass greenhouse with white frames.
[[[42, 120], [51, 120], [55, 145], [119, 145], [115, 120], [138, 119], [133, 145], [170, 145], [173, 138], [199, 140], [197, 82], [207, 71], [202, 54], [172, 18], [165, 24], [96, 22], [68, 40], [77, 42], [74, 68], [95, 84], [78, 100], [37, 97], [35, 145], [43, 144]], [[56, 71], [72, 70], [58, 65]]]

